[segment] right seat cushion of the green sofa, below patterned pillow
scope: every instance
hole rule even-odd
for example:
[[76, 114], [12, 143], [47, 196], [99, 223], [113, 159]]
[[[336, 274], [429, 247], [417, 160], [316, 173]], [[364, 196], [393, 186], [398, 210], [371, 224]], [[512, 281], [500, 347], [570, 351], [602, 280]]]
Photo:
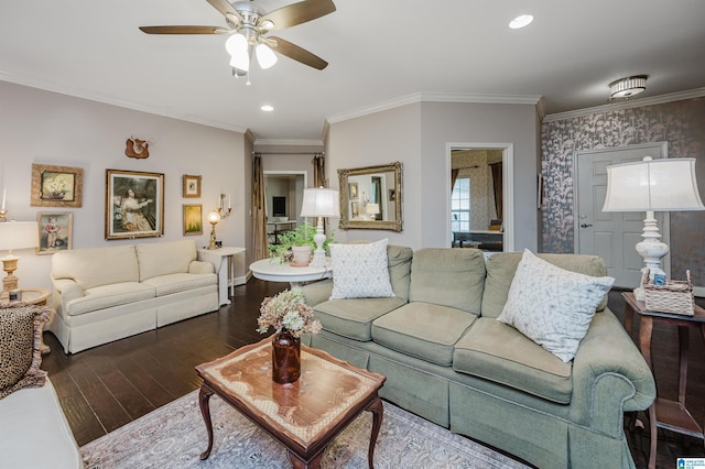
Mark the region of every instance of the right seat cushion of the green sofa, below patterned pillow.
[[571, 363], [494, 318], [478, 318], [458, 340], [453, 369], [558, 404], [568, 404], [573, 394]]

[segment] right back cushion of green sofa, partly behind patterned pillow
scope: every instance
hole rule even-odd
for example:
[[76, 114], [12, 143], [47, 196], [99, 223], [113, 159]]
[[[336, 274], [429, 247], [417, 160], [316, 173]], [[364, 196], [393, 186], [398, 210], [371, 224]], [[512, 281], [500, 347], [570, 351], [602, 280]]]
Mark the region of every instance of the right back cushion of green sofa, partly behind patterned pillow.
[[[501, 314], [521, 257], [521, 252], [498, 252], [487, 259], [487, 279], [482, 294], [482, 317], [497, 318]], [[536, 254], [536, 257], [571, 272], [592, 276], [607, 275], [605, 261], [595, 255]], [[607, 295], [597, 306], [597, 312], [601, 312], [606, 306]]]

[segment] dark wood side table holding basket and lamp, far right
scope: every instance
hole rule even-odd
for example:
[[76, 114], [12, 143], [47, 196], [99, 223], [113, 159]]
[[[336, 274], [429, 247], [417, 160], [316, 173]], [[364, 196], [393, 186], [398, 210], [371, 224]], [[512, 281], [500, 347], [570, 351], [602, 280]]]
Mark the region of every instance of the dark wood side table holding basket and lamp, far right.
[[705, 309], [695, 305], [695, 314], [693, 316], [650, 312], [647, 310], [644, 302], [637, 301], [632, 292], [625, 292], [621, 296], [625, 298], [625, 328], [630, 335], [632, 332], [634, 312], [639, 315], [639, 348], [641, 349], [641, 355], [644, 360], [647, 360], [647, 363], [651, 368], [652, 373], [651, 332], [653, 331], [653, 323], [665, 323], [679, 327], [679, 400], [671, 401], [657, 395], [654, 403], [649, 407], [649, 426], [651, 432], [649, 469], [654, 469], [657, 463], [657, 427], [705, 440], [705, 434], [703, 433], [705, 425], [698, 425], [685, 407], [688, 350], [687, 328], [698, 328], [703, 340], [705, 340]]

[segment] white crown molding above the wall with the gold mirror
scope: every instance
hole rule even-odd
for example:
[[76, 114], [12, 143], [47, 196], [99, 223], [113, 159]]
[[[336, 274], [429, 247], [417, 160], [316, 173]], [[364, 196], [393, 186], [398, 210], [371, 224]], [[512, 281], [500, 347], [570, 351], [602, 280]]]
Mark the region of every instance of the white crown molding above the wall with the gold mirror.
[[350, 112], [332, 116], [326, 119], [328, 123], [343, 122], [349, 119], [364, 117], [402, 106], [419, 102], [474, 102], [491, 105], [532, 105], [539, 103], [541, 96], [533, 95], [476, 95], [476, 94], [449, 94], [449, 92], [414, 92], [389, 99], [372, 106], [355, 109]]

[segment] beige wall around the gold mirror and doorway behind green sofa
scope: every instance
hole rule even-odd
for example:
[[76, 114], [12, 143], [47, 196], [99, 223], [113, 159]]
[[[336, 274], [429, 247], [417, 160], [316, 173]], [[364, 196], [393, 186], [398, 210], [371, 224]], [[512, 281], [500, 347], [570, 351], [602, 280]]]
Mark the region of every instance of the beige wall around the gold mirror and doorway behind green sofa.
[[[375, 240], [419, 249], [448, 247], [448, 143], [513, 144], [514, 249], [536, 249], [536, 112], [529, 105], [414, 103], [330, 123], [326, 171], [403, 164], [403, 231], [338, 230], [336, 239]], [[447, 190], [446, 190], [447, 189]]]

